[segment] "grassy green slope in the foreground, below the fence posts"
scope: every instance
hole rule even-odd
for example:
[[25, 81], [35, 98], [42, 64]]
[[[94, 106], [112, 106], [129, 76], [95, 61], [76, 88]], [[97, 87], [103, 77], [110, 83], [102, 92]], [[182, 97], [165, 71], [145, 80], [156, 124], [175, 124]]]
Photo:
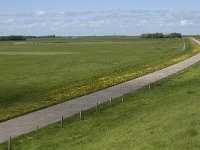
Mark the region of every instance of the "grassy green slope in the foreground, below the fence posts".
[[[200, 149], [200, 64], [12, 141], [13, 150]], [[0, 145], [6, 149], [7, 143]]]

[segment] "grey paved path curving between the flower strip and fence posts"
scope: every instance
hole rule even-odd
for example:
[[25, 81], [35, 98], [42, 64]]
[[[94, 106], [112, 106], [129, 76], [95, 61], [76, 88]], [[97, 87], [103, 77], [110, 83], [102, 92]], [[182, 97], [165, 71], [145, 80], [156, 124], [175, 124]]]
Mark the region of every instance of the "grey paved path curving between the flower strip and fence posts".
[[[200, 41], [196, 42], [200, 44]], [[70, 117], [74, 114], [77, 114], [80, 110], [86, 110], [96, 106], [97, 102], [100, 104], [108, 101], [110, 97], [116, 98], [122, 96], [123, 94], [137, 90], [141, 87], [170, 76], [178, 71], [181, 71], [199, 61], [200, 54], [197, 54], [178, 64], [169, 66], [137, 79], [133, 79], [131, 81], [86, 96], [75, 98], [71, 101], [2, 122], [0, 123], [0, 143], [6, 141], [10, 135], [12, 137], [17, 137], [19, 135], [36, 130], [37, 125], [39, 128], [42, 128], [49, 124], [55, 123], [60, 120], [61, 116], [64, 116], [64, 118]]]

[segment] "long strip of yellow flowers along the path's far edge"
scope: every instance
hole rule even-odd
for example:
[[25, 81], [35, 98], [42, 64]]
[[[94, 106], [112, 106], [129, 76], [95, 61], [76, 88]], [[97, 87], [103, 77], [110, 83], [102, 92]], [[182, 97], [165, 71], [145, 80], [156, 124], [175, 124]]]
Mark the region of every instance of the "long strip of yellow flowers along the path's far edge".
[[73, 99], [75, 97], [79, 97], [79, 96], [83, 96], [86, 95], [88, 93], [92, 93], [94, 91], [98, 91], [100, 89], [106, 88], [106, 87], [110, 87], [119, 83], [122, 83], [124, 81], [128, 81], [140, 76], [143, 76], [145, 74], [160, 70], [166, 66], [178, 63], [180, 61], [183, 61], [189, 57], [191, 57], [194, 54], [197, 54], [200, 52], [200, 46], [197, 45], [194, 41], [190, 41], [190, 44], [192, 46], [192, 51], [187, 52], [181, 56], [178, 56], [177, 58], [174, 58], [172, 60], [170, 60], [167, 63], [164, 64], [160, 64], [154, 67], [149, 67], [143, 70], [139, 70], [136, 72], [128, 72], [122, 75], [116, 75], [114, 77], [110, 77], [110, 76], [106, 76], [106, 77], [102, 77], [97, 79], [95, 82], [86, 84], [86, 85], [82, 85], [82, 86], [78, 86], [75, 87], [73, 89], [70, 89], [68, 91], [64, 91], [64, 92], [60, 92], [58, 94], [52, 95], [49, 98], [46, 99], [40, 99], [38, 101], [35, 102], [26, 102], [23, 104], [18, 104], [17, 106], [14, 107], [8, 107], [5, 109], [1, 109], [0, 110], [0, 121], [3, 120], [7, 120], [10, 119], [12, 117], [16, 117], [18, 115], [27, 113], [27, 112], [31, 112], [31, 111], [35, 111], [53, 104], [57, 104], [69, 99]]

